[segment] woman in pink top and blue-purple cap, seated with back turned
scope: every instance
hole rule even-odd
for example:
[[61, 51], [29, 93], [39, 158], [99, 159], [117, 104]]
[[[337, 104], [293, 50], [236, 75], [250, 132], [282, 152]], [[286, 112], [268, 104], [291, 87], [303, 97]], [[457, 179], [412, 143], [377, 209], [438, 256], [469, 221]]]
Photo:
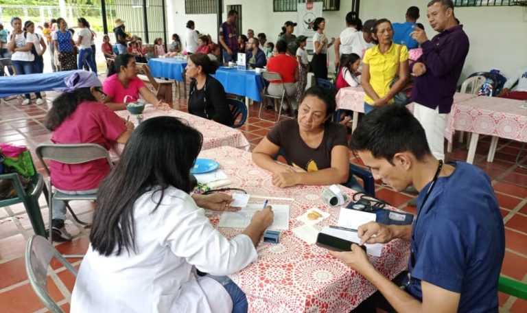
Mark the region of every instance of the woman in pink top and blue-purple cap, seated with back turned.
[[[97, 143], [110, 149], [115, 143], [126, 143], [134, 125], [118, 117], [102, 102], [106, 94], [100, 89], [97, 76], [88, 71], [74, 73], [66, 81], [64, 91], [53, 102], [45, 121], [54, 143]], [[50, 162], [51, 181], [65, 194], [95, 194], [99, 183], [110, 173], [106, 159], [82, 164]], [[71, 240], [64, 227], [65, 202], [53, 200], [51, 212], [53, 240]]]

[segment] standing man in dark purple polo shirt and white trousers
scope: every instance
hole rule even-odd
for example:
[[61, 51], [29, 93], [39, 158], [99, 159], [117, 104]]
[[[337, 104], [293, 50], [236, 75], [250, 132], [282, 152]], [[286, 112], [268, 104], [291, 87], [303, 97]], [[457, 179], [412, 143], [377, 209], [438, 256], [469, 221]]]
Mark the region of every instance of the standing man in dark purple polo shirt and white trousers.
[[426, 15], [439, 34], [429, 40], [424, 30], [414, 26], [412, 38], [423, 48], [423, 55], [412, 66], [415, 79], [411, 99], [432, 154], [444, 160], [447, 115], [469, 52], [469, 38], [456, 21], [452, 0], [430, 1]]

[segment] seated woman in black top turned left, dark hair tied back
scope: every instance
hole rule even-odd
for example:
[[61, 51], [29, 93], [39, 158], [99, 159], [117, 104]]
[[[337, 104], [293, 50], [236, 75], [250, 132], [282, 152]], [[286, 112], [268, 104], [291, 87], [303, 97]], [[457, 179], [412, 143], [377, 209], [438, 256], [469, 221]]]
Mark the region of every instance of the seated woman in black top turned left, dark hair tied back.
[[215, 73], [218, 63], [207, 54], [191, 54], [187, 64], [187, 76], [191, 78], [189, 93], [189, 113], [212, 119], [226, 126], [233, 126], [225, 89], [210, 74]]

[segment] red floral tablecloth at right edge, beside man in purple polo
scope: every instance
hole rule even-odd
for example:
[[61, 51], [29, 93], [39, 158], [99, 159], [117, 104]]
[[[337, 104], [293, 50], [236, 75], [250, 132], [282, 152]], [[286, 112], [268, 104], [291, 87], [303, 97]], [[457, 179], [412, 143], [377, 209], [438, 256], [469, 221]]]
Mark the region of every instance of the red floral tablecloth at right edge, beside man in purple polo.
[[527, 108], [521, 100], [474, 97], [452, 106], [445, 137], [454, 130], [527, 142]]

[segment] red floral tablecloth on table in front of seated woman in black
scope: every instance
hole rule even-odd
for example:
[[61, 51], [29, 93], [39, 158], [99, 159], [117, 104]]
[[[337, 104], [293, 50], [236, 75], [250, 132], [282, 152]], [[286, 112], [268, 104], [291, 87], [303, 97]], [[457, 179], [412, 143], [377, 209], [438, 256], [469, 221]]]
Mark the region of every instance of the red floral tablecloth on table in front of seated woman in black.
[[[128, 111], [116, 111], [117, 115], [126, 119], [130, 115], [130, 121], [137, 126], [136, 115], [131, 115]], [[173, 116], [185, 119], [190, 126], [196, 128], [203, 134], [203, 147], [202, 150], [207, 150], [220, 146], [231, 146], [239, 149], [249, 150], [250, 144], [247, 141], [244, 134], [229, 126], [216, 123], [209, 119], [204, 119], [196, 115], [191, 115], [178, 110], [156, 110], [154, 106], [147, 105], [145, 111], [143, 111], [143, 119], [151, 119], [152, 117], [158, 116]], [[119, 144], [117, 150], [122, 151], [124, 145]]]

